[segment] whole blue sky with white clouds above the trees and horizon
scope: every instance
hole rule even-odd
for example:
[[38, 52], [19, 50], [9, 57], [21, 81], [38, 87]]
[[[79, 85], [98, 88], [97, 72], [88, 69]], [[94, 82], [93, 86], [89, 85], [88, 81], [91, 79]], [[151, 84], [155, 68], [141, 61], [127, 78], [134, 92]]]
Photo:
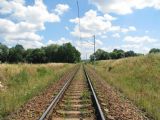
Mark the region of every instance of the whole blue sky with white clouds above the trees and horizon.
[[[0, 0], [0, 42], [37, 48], [71, 42], [81, 53], [160, 48], [159, 0]], [[79, 39], [81, 34], [81, 39]]]

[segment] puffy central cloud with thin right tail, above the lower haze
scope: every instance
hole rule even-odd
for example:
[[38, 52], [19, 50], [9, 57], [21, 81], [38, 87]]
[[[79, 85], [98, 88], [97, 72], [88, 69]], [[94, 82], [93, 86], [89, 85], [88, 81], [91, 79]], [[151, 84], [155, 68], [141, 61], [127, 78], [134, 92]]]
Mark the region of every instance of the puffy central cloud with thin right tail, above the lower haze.
[[106, 36], [107, 32], [128, 33], [136, 31], [134, 26], [127, 28], [114, 26], [112, 25], [112, 20], [116, 20], [116, 18], [109, 14], [98, 15], [97, 11], [91, 9], [80, 18], [80, 26], [78, 18], [70, 19], [70, 22], [75, 24], [71, 34], [76, 37], [81, 36], [82, 38], [88, 38], [94, 34], [96, 36]]

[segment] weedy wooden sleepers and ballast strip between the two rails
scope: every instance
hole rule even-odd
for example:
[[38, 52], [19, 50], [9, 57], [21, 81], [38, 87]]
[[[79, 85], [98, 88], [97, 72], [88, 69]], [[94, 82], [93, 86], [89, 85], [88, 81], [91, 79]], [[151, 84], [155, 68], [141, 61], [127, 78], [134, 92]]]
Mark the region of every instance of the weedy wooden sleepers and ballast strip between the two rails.
[[94, 120], [95, 110], [91, 92], [82, 66], [78, 70], [62, 99], [53, 110], [51, 120]]

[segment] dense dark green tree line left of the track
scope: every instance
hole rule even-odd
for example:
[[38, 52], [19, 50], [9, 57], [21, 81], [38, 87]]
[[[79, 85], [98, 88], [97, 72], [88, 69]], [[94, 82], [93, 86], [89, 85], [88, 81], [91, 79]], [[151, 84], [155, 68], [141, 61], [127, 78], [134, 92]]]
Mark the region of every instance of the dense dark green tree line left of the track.
[[46, 47], [27, 49], [17, 44], [12, 48], [0, 43], [0, 62], [4, 63], [75, 63], [81, 60], [80, 52], [71, 43], [51, 44]]

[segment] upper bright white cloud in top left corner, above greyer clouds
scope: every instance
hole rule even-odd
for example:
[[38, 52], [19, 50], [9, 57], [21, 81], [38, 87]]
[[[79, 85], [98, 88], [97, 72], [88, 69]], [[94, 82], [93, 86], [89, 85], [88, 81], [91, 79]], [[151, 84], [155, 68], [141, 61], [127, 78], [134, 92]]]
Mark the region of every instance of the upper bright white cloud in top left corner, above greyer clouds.
[[[44, 22], [58, 22], [60, 18], [55, 13], [49, 13], [43, 0], [35, 0], [33, 6], [26, 6], [23, 0], [3, 1], [0, 3], [1, 14], [9, 14], [12, 19], [25, 21], [27, 23], [36, 23], [38, 25]], [[8, 8], [9, 7], [9, 8]], [[3, 12], [5, 10], [5, 12]], [[8, 11], [7, 11], [8, 10]]]

